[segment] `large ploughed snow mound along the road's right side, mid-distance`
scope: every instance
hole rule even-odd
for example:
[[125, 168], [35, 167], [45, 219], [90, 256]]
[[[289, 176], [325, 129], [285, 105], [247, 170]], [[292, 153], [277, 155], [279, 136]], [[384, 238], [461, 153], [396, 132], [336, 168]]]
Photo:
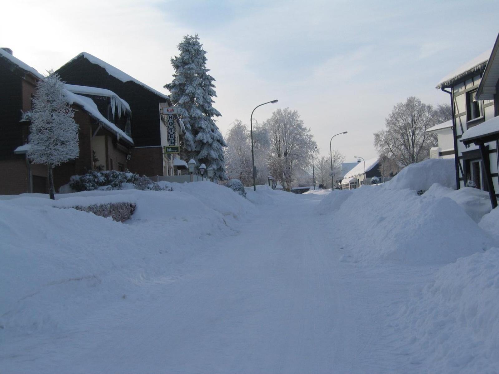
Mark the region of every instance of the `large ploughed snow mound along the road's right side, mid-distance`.
[[345, 248], [345, 259], [442, 264], [492, 245], [477, 223], [448, 197], [372, 186], [334, 193], [321, 201], [317, 211], [334, 210], [329, 219], [342, 233], [338, 244]]

